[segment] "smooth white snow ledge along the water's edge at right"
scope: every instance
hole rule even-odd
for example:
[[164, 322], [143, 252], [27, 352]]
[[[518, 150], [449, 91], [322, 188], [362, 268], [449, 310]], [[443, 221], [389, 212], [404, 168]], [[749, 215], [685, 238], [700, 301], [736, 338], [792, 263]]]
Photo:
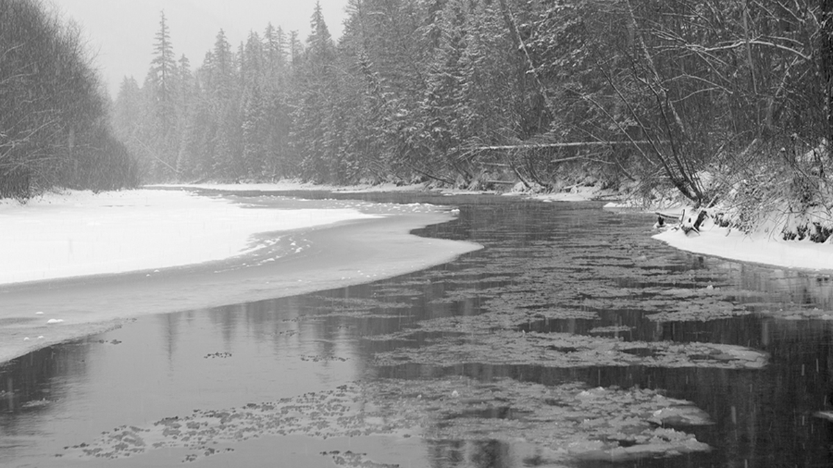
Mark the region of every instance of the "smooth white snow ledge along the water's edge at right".
[[708, 223], [698, 235], [687, 236], [679, 229], [669, 229], [654, 236], [684, 251], [721, 256], [731, 260], [751, 261], [786, 268], [833, 271], [833, 245], [811, 241], [784, 241], [760, 232], [747, 236], [736, 230]]

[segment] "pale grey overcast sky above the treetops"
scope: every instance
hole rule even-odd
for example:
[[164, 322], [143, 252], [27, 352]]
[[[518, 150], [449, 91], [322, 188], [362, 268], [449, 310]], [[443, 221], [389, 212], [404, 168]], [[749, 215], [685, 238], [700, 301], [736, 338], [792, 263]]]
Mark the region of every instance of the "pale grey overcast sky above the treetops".
[[[80, 24], [87, 49], [107, 82], [113, 97], [122, 78], [139, 84], [151, 62], [159, 12], [165, 11], [177, 59], [185, 54], [192, 68], [214, 45], [222, 28], [234, 50], [249, 31], [263, 32], [269, 22], [284, 31], [297, 30], [301, 39], [310, 33], [315, 0], [49, 0], [65, 20]], [[342, 34], [347, 0], [321, 0], [324, 19], [334, 38]]]

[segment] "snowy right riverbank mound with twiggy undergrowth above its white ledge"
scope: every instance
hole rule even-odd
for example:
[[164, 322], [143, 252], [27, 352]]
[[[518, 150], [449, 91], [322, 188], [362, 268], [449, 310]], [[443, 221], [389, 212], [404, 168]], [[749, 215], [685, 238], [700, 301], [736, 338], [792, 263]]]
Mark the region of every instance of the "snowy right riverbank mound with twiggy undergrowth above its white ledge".
[[732, 184], [721, 202], [702, 208], [699, 230], [689, 230], [701, 210], [681, 226], [655, 236], [676, 248], [772, 266], [833, 271], [833, 192], [823, 177], [758, 174]]

